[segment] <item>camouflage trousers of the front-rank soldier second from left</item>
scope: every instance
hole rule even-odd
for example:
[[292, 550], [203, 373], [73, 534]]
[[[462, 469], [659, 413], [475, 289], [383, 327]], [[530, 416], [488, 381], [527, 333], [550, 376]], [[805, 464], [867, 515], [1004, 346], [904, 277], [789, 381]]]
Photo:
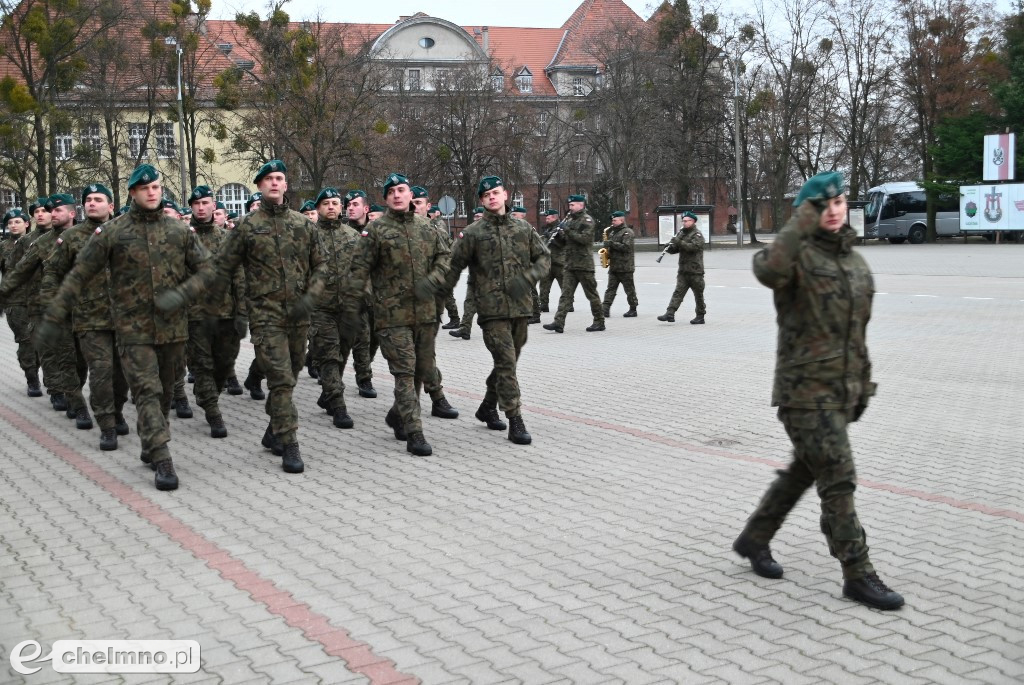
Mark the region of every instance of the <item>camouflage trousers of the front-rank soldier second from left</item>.
[[308, 326], [261, 328], [252, 333], [256, 361], [266, 374], [266, 413], [270, 430], [285, 444], [297, 442], [299, 415], [292, 401], [299, 372], [306, 363]]

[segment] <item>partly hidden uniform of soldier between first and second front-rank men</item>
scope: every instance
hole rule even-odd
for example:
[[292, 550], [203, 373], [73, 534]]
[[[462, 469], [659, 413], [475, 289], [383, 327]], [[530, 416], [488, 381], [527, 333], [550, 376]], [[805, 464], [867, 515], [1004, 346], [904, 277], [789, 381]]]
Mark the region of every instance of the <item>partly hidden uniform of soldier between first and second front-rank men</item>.
[[[191, 220], [191, 230], [199, 242], [212, 255], [220, 251], [229, 231], [218, 228], [213, 221], [201, 223]], [[234, 373], [234, 359], [239, 356], [241, 338], [234, 328], [236, 318], [246, 316], [244, 274], [241, 268], [231, 273], [231, 285], [220, 295], [203, 298], [188, 307], [188, 344], [185, 356], [196, 384], [193, 392], [196, 403], [206, 414], [209, 423], [220, 417], [220, 393], [227, 379]], [[177, 392], [177, 383], [175, 383]], [[178, 399], [175, 396], [175, 399]]]

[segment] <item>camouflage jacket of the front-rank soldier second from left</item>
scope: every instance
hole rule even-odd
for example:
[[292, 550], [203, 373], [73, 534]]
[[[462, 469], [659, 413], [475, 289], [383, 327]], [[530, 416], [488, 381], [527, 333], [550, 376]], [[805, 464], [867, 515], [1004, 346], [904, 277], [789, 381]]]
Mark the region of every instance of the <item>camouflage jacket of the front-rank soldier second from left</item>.
[[[309, 317], [291, 318], [292, 306], [309, 293], [318, 298], [327, 284], [327, 263], [316, 226], [287, 204], [260, 205], [239, 221], [217, 253], [216, 284], [210, 299], [220, 297], [239, 266], [245, 268], [249, 326], [292, 328], [306, 326]], [[202, 281], [191, 279], [182, 287], [189, 300], [202, 292]]]

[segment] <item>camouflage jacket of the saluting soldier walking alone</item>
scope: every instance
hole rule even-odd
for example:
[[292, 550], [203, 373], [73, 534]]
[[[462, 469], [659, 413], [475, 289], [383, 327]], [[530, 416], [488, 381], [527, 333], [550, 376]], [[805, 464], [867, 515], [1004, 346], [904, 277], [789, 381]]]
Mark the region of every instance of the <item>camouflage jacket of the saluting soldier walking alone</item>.
[[853, 251], [856, 232], [804, 237], [794, 217], [754, 256], [775, 293], [778, 346], [772, 405], [849, 410], [874, 394], [865, 333], [874, 284]]

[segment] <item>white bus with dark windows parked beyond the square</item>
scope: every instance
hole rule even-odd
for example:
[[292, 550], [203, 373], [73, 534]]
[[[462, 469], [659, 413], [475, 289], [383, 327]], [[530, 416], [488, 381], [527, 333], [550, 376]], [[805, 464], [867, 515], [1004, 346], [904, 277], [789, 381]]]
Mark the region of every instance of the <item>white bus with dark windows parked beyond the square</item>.
[[[942, 194], [936, 198], [936, 236], [958, 236], [958, 194]], [[928, 234], [928, 209], [925, 190], [913, 181], [883, 183], [867, 191], [864, 208], [864, 238], [888, 240], [890, 243], [924, 243]]]

